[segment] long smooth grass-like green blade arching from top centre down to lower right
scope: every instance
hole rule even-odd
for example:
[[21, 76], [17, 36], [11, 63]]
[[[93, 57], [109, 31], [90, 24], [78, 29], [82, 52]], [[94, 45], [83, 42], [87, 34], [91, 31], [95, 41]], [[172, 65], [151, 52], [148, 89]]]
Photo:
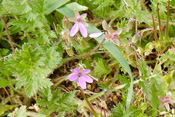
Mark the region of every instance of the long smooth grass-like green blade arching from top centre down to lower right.
[[[63, 15], [66, 15], [68, 18], [72, 17], [72, 14], [74, 14], [74, 11], [70, 10], [67, 7], [61, 7], [57, 9], [58, 12], [62, 13]], [[67, 11], [67, 12], [64, 12]], [[87, 27], [88, 33], [95, 33], [99, 32], [99, 30], [93, 26], [92, 24], [89, 24]], [[104, 39], [104, 36], [95, 38], [99, 43]], [[103, 43], [103, 46], [119, 61], [119, 63], [123, 66], [123, 68], [128, 72], [131, 82], [130, 82], [130, 87], [128, 89], [128, 96], [127, 96], [127, 109], [129, 109], [131, 99], [132, 99], [132, 94], [133, 94], [133, 77], [131, 73], [131, 69], [126, 61], [126, 59], [123, 57], [119, 49], [110, 41], [105, 41]]]

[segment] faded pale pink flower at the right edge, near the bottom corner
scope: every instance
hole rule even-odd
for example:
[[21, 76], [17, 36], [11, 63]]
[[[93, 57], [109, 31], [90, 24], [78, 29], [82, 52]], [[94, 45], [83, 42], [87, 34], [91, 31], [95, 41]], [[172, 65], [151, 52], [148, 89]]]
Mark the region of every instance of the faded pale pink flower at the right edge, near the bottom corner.
[[161, 100], [160, 107], [165, 106], [165, 108], [167, 109], [168, 112], [170, 110], [169, 104], [175, 103], [175, 101], [171, 97], [171, 92], [167, 93], [167, 96], [165, 96], [165, 97], [159, 97], [159, 99]]

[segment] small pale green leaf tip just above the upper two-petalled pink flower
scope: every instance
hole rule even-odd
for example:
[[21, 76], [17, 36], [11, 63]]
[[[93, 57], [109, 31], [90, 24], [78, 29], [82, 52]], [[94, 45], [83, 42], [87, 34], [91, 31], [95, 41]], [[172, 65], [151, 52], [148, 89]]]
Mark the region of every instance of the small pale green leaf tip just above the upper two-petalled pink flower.
[[67, 4], [66, 7], [68, 7], [71, 10], [77, 10], [77, 11], [84, 11], [88, 9], [88, 7], [79, 5], [77, 2]]

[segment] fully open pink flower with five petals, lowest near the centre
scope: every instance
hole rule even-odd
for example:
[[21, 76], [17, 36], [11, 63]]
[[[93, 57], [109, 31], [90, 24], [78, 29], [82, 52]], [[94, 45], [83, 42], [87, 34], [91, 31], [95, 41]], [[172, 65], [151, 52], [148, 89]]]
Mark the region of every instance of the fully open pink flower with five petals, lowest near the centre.
[[77, 82], [77, 85], [80, 86], [82, 89], [86, 89], [86, 82], [92, 83], [93, 80], [88, 75], [90, 69], [80, 70], [79, 68], [74, 68], [74, 73], [69, 77], [70, 81]]

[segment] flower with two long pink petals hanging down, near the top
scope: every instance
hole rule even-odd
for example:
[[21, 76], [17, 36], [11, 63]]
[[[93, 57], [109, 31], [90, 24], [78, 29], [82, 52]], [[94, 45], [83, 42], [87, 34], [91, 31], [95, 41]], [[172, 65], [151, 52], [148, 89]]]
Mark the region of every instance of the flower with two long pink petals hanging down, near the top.
[[87, 25], [87, 23], [85, 22], [87, 14], [84, 13], [80, 15], [76, 10], [74, 11], [74, 13], [75, 17], [69, 19], [71, 22], [75, 22], [70, 30], [70, 36], [73, 37], [80, 30], [82, 36], [87, 37], [87, 29], [85, 27], [85, 25]]

